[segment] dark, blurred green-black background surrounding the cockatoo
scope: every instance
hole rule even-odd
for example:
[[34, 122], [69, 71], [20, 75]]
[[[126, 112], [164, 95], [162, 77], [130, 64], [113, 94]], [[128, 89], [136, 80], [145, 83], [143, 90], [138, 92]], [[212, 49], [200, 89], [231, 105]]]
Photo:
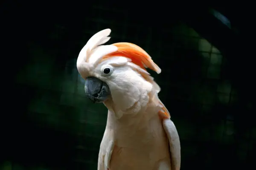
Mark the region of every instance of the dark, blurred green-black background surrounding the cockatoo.
[[3, 3], [0, 169], [96, 170], [107, 109], [84, 97], [76, 59], [105, 28], [108, 44], [135, 43], [162, 68], [152, 74], [180, 135], [182, 170], [253, 166], [255, 54], [241, 4]]

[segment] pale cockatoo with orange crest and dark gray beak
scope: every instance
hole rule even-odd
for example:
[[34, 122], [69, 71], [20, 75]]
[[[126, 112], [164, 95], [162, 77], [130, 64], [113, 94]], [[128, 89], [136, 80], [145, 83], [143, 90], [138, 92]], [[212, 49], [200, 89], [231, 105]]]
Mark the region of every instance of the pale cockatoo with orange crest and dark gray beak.
[[76, 63], [85, 94], [108, 108], [98, 170], [180, 170], [177, 129], [145, 68], [161, 69], [135, 44], [103, 45], [110, 33], [94, 34]]

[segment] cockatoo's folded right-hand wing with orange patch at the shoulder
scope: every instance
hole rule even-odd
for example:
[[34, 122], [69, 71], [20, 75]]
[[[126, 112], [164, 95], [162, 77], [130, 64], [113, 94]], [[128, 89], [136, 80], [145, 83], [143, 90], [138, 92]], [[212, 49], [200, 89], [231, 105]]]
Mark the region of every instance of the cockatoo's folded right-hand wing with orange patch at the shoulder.
[[172, 170], [180, 170], [180, 138], [174, 123], [170, 119], [169, 111], [161, 101], [159, 102], [159, 105], [161, 107], [159, 115], [163, 119], [163, 128], [169, 139]]

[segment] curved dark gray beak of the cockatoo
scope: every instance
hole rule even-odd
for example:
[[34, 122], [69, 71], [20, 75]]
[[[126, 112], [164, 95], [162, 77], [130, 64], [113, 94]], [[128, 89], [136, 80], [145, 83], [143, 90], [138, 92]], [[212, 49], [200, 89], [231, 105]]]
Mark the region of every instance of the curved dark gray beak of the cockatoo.
[[104, 102], [110, 95], [108, 85], [96, 77], [87, 77], [84, 83], [86, 96], [93, 103]]

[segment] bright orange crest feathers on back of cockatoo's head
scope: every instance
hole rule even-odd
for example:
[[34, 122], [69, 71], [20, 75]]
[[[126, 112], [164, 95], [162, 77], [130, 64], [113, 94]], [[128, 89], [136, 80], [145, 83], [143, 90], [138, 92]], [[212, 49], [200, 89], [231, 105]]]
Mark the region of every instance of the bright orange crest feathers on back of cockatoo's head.
[[129, 42], [118, 42], [114, 43], [118, 50], [106, 55], [103, 59], [114, 56], [122, 56], [131, 59], [131, 61], [140, 66], [145, 70], [146, 68], [150, 68], [157, 73], [160, 73], [161, 69], [153, 62], [151, 57], [148, 55], [146, 51], [140, 48], [138, 45], [129, 43]]

